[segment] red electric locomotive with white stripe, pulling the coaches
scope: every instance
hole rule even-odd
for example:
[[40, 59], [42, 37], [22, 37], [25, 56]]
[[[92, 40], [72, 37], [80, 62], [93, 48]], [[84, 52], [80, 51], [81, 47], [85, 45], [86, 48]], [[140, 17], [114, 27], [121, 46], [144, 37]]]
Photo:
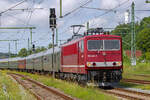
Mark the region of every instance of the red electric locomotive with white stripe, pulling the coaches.
[[94, 82], [99, 86], [122, 79], [122, 39], [101, 31], [74, 35], [61, 47], [61, 72], [64, 78]]

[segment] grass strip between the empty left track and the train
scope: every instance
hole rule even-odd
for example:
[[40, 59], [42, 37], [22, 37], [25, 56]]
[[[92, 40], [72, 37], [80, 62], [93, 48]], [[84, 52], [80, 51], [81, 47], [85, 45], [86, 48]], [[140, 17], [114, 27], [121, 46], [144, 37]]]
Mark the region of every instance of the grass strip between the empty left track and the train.
[[81, 87], [76, 83], [67, 82], [59, 79], [53, 79], [50, 76], [36, 75], [24, 72], [17, 72], [31, 77], [47, 86], [57, 88], [64, 93], [76, 97], [81, 100], [116, 100], [112, 96], [102, 93], [98, 88]]

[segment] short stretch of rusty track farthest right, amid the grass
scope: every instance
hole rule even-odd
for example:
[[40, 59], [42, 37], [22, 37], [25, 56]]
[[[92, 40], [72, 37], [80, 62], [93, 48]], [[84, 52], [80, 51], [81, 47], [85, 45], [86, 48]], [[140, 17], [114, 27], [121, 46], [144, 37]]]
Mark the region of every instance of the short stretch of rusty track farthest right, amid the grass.
[[150, 84], [150, 81], [147, 80], [122, 79], [121, 81], [127, 83], [136, 83], [136, 84]]

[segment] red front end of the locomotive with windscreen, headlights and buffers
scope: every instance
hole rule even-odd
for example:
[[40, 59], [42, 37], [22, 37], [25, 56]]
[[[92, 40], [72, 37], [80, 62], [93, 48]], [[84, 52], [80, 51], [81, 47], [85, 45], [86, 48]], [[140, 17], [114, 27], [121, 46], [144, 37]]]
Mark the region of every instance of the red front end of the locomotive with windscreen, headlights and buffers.
[[119, 82], [123, 70], [121, 37], [87, 36], [85, 44], [85, 69], [88, 80], [95, 80], [103, 85]]

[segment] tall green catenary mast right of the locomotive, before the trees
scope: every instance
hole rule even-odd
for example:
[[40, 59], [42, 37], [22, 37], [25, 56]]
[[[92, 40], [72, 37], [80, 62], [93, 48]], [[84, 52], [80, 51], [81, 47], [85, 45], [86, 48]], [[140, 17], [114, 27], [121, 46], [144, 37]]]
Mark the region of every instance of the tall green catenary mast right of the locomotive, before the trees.
[[134, 2], [131, 6], [131, 65], [136, 65], [136, 40], [135, 40], [135, 16], [134, 16]]

